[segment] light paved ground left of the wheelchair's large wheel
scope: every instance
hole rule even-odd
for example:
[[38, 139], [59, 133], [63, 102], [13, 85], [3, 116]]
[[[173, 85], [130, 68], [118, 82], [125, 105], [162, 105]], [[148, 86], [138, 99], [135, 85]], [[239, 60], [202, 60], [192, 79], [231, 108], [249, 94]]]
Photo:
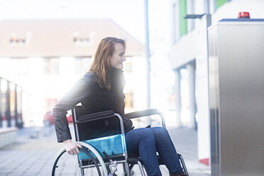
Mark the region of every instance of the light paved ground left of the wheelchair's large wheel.
[[18, 130], [17, 143], [0, 150], [0, 175], [51, 175], [55, 157], [62, 144], [56, 143], [54, 129], [49, 130]]

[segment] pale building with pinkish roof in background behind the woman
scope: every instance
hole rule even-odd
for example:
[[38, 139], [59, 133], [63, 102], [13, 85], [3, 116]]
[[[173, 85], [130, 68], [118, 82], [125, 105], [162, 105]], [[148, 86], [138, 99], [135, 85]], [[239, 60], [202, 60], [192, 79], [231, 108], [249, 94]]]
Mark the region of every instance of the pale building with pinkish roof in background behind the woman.
[[44, 114], [89, 70], [99, 41], [107, 36], [126, 40], [126, 111], [145, 108], [143, 44], [114, 21], [6, 20], [0, 26], [0, 75], [22, 87], [26, 126], [43, 124]]

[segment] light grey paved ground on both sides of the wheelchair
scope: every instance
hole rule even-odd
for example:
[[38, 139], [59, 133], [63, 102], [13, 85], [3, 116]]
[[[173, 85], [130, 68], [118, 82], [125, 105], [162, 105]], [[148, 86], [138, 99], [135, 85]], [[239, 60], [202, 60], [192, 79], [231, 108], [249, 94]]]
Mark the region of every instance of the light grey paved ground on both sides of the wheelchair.
[[[51, 130], [51, 131], [50, 131]], [[187, 128], [168, 128], [178, 153], [182, 154], [189, 175], [210, 175], [210, 167], [198, 162], [197, 132]], [[23, 128], [18, 141], [0, 150], [0, 175], [51, 175], [53, 163], [62, 143], [57, 143], [54, 127]], [[169, 175], [165, 166], [163, 175]]]

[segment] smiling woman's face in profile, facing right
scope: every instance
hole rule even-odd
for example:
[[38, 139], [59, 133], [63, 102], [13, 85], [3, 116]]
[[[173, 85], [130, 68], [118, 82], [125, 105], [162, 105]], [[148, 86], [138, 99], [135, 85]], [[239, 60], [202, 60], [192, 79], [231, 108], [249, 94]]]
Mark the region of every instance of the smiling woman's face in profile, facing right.
[[121, 43], [114, 44], [114, 53], [110, 58], [110, 65], [119, 70], [123, 70], [123, 61], [126, 61], [125, 48]]

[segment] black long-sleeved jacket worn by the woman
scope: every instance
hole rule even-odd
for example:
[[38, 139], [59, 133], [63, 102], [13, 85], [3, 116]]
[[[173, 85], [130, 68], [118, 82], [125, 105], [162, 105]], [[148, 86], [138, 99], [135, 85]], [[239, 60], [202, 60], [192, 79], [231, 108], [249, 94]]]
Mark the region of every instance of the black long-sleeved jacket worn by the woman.
[[[110, 72], [111, 89], [99, 87], [96, 75], [87, 73], [79, 79], [65, 96], [58, 101], [53, 108], [53, 116], [55, 130], [57, 133], [57, 141], [62, 142], [71, 139], [70, 129], [66, 119], [67, 111], [73, 109], [79, 102], [82, 103], [85, 114], [92, 114], [99, 111], [113, 110], [114, 112], [124, 114], [124, 94], [123, 94], [123, 72], [115, 68], [111, 68]], [[118, 119], [107, 119], [110, 122], [110, 128], [118, 128]], [[128, 131], [132, 127], [130, 119], [123, 119], [125, 130]], [[87, 133], [92, 133], [90, 128], [104, 128], [105, 120], [91, 121], [86, 124], [89, 127]], [[97, 130], [97, 132], [99, 132]], [[100, 136], [100, 134], [98, 134]]]

